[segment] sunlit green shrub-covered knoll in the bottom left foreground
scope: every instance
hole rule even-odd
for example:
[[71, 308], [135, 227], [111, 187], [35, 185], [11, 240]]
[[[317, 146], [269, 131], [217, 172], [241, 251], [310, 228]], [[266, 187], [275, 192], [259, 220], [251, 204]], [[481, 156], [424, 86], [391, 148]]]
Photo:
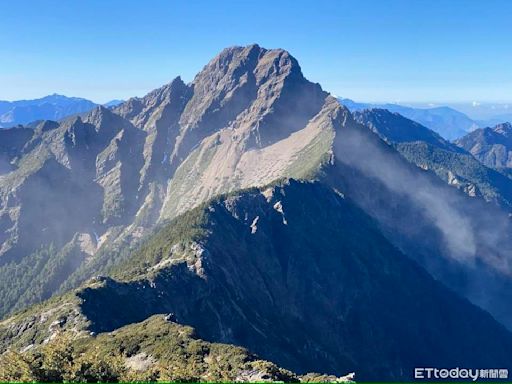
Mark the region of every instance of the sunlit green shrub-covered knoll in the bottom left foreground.
[[298, 382], [299, 377], [247, 350], [198, 339], [192, 328], [154, 316], [116, 332], [71, 338], [0, 356], [1, 381]]

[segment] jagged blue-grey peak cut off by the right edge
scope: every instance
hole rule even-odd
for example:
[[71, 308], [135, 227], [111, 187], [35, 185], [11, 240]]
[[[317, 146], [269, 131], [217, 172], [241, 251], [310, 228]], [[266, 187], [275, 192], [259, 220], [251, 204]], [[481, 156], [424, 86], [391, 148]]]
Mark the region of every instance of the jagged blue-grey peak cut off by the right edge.
[[455, 141], [488, 167], [512, 167], [512, 125], [498, 124], [494, 128], [477, 129]]

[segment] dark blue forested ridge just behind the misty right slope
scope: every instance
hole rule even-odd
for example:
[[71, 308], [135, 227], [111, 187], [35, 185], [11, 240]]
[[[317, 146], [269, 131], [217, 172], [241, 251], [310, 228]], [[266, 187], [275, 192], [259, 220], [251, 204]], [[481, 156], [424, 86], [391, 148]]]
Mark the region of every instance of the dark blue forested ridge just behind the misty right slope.
[[355, 112], [354, 118], [393, 145], [408, 161], [430, 170], [471, 197], [512, 208], [512, 181], [470, 153], [398, 113], [383, 109]]

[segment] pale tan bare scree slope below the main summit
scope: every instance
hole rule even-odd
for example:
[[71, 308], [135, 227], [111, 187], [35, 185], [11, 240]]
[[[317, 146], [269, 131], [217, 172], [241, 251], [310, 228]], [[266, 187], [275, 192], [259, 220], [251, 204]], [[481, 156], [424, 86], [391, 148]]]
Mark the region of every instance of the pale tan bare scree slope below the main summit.
[[246, 148], [250, 132], [222, 130], [199, 145], [169, 182], [161, 217], [172, 218], [214, 194], [312, 176], [329, 156], [340, 106], [334, 98], [309, 123], [263, 148]]

